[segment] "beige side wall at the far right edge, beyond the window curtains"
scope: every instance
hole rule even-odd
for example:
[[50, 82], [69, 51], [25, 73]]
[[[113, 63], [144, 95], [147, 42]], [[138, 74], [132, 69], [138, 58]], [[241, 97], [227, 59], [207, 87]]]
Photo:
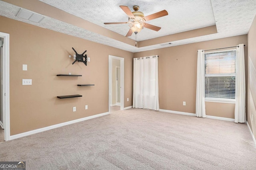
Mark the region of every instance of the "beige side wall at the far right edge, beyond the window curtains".
[[[250, 60], [249, 60], [250, 59]], [[250, 63], [251, 61], [251, 63]], [[247, 121], [256, 138], [256, 16], [248, 32]]]

